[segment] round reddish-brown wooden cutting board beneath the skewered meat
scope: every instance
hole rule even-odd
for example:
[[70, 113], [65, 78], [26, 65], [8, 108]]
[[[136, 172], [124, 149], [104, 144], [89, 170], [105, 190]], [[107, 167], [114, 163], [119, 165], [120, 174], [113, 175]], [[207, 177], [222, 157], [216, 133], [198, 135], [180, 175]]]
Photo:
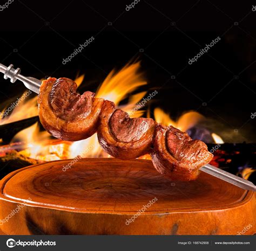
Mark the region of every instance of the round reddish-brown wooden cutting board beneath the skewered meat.
[[255, 194], [206, 173], [171, 182], [146, 160], [87, 158], [63, 171], [70, 162], [32, 165], [2, 179], [5, 234], [256, 232]]

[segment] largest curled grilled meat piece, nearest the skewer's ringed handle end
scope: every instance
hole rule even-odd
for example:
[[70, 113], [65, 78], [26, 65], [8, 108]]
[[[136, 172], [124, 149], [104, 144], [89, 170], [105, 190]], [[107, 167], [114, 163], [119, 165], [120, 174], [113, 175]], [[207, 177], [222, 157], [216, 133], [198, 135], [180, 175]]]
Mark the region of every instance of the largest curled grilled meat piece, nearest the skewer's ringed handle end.
[[67, 78], [48, 78], [38, 95], [38, 113], [43, 127], [56, 138], [78, 141], [97, 131], [104, 99], [95, 93], [76, 93], [77, 84]]

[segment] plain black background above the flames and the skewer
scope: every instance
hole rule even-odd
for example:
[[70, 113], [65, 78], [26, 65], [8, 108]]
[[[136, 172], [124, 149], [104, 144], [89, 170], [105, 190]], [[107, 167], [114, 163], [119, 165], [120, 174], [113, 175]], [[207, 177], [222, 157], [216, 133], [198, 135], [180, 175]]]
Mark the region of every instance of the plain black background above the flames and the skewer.
[[[38, 79], [85, 73], [80, 91], [95, 91], [113, 68], [139, 58], [149, 82], [140, 90], [159, 92], [151, 111], [161, 107], [175, 120], [197, 110], [226, 142], [256, 142], [253, 2], [141, 0], [126, 11], [132, 2], [14, 0], [0, 11], [1, 63]], [[95, 40], [63, 65], [91, 36]], [[217, 44], [188, 65], [218, 36]], [[1, 78], [0, 85], [0, 108], [25, 90], [18, 81]]]

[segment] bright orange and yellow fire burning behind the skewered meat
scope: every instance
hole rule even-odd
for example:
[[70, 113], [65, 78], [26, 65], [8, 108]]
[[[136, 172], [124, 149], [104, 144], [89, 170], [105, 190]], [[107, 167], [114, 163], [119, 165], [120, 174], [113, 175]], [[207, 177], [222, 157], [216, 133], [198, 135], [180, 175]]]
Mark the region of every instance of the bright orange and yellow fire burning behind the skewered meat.
[[[84, 75], [77, 76], [75, 82], [81, 85]], [[129, 63], [120, 71], [112, 70], [102, 84], [98, 87], [96, 97], [102, 97], [116, 103], [117, 107], [127, 111], [131, 117], [140, 117], [144, 110], [135, 109], [137, 104], [146, 95], [146, 92], [140, 92], [131, 95], [136, 89], [146, 85], [144, 74], [140, 72], [140, 62]], [[120, 102], [128, 99], [126, 104], [120, 105]], [[26, 112], [24, 112], [24, 110]], [[37, 116], [37, 97], [25, 99], [12, 110], [9, 116], [0, 120], [0, 124], [10, 123], [24, 118]], [[148, 113], [149, 116], [149, 113]], [[154, 109], [154, 118], [157, 122], [165, 126], [174, 126], [182, 131], [193, 127], [204, 119], [204, 116], [196, 111], [189, 111], [181, 115], [177, 121], [171, 119], [162, 109]], [[215, 139], [215, 136], [213, 136]], [[12, 142], [24, 142], [24, 150], [21, 154], [34, 159], [43, 161], [52, 161], [57, 159], [81, 157], [111, 157], [100, 148], [97, 134], [86, 140], [77, 142], [65, 142], [62, 140], [53, 140], [52, 136], [46, 131], [40, 131], [38, 123], [33, 124], [20, 131], [13, 138]], [[141, 158], [150, 159], [150, 155], [144, 155]]]

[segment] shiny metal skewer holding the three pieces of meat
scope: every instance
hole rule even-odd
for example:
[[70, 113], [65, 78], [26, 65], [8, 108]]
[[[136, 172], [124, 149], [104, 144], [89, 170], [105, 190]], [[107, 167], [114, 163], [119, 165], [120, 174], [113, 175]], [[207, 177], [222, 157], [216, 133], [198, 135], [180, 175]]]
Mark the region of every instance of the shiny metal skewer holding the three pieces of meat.
[[[32, 92], [39, 94], [41, 81], [35, 78], [31, 78], [30, 76], [21, 75], [21, 69], [14, 69], [13, 65], [9, 65], [9, 67], [6, 67], [0, 64], [0, 72], [4, 73], [4, 79], [9, 78], [11, 79], [12, 83], [14, 83], [17, 79], [21, 80], [26, 88], [32, 90]], [[238, 186], [241, 189], [252, 190], [254, 192], [256, 191], [256, 186], [252, 182], [232, 175], [232, 173], [226, 172], [219, 168], [215, 168], [215, 166], [213, 165], [206, 164], [205, 166], [201, 167], [200, 170], [208, 173], [209, 175], [225, 180], [225, 182]]]

